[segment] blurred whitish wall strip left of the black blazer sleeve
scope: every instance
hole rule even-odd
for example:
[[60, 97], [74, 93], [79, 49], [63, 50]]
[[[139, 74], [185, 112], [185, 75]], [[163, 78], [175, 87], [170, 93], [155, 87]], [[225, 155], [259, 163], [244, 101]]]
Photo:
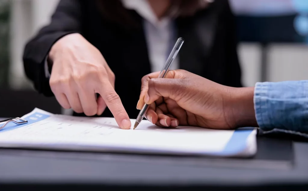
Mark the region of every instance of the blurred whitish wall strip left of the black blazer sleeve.
[[11, 0], [10, 87], [31, 88], [23, 70], [22, 54], [26, 41], [50, 21], [59, 0]]

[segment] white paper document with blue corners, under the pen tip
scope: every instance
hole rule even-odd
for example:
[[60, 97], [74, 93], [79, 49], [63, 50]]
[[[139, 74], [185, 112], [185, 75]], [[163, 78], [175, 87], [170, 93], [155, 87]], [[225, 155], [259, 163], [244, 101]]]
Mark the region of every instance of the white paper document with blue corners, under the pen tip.
[[243, 157], [257, 151], [255, 128], [170, 129], [143, 120], [137, 129], [127, 130], [114, 118], [56, 115], [38, 108], [21, 118], [28, 123], [10, 123], [0, 130], [0, 147]]

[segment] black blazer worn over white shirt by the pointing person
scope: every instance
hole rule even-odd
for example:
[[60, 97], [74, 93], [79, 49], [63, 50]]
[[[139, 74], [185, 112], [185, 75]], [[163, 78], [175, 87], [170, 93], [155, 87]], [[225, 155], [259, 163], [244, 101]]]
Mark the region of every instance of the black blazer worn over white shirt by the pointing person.
[[[141, 26], [140, 15], [134, 10], [127, 11]], [[178, 55], [180, 69], [223, 85], [241, 87], [234, 16], [228, 0], [217, 0], [194, 16], [177, 18], [176, 26], [178, 37], [185, 39]], [[139, 112], [136, 104], [141, 78], [151, 72], [144, 31], [142, 27], [126, 30], [108, 20], [94, 0], [61, 0], [51, 23], [26, 44], [24, 69], [35, 89], [53, 96], [44, 73], [44, 59], [59, 38], [75, 32], [102, 53], [115, 74], [115, 91], [129, 117], [135, 119]], [[112, 117], [112, 114], [106, 108], [102, 116]]]

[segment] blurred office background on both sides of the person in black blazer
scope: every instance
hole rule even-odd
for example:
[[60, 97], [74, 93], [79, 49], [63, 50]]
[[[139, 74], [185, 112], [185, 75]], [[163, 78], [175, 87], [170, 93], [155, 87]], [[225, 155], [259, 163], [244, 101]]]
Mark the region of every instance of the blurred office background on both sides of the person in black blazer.
[[[0, 117], [38, 107], [68, 114], [24, 75], [26, 41], [49, 22], [59, 0], [0, 0]], [[308, 0], [230, 0], [237, 17], [242, 82], [308, 79]]]

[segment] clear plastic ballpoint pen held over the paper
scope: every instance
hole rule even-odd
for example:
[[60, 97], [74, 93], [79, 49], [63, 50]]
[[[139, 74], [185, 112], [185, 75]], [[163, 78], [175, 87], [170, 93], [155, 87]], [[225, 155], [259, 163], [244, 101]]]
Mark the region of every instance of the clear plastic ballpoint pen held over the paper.
[[[163, 69], [160, 71], [160, 74], [158, 76], [158, 78], [164, 78], [165, 75], [167, 74], [167, 72], [169, 71], [170, 66], [172, 65], [177, 53], [180, 51], [180, 48], [182, 47], [184, 43], [184, 39], [182, 38], [178, 38], [174, 47], [172, 48], [172, 51], [163, 67]], [[144, 106], [142, 107], [142, 109], [140, 110], [138, 117], [136, 119], [136, 123], [134, 125], [134, 129], [136, 129], [136, 127], [140, 124], [141, 120], [143, 120], [144, 115], [146, 114], [146, 112], [148, 111], [149, 105], [148, 104], [144, 104]]]

